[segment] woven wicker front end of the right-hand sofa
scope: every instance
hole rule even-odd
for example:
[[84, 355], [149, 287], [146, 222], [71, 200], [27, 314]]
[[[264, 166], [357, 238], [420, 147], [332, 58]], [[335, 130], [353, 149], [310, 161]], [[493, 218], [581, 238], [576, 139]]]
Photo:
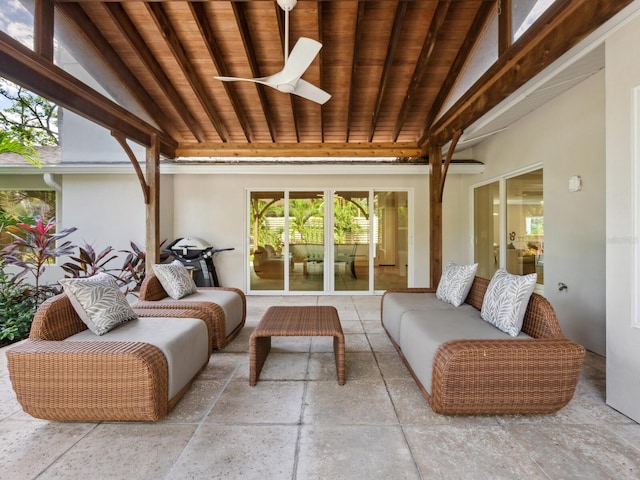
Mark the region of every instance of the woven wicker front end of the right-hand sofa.
[[584, 355], [566, 338], [447, 342], [433, 360], [431, 408], [444, 414], [553, 413], [573, 397]]

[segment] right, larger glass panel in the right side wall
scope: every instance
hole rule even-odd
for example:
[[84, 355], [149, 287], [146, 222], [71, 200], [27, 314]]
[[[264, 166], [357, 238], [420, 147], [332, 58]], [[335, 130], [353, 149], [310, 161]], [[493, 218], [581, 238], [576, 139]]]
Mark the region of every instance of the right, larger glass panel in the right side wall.
[[544, 200], [542, 169], [506, 180], [507, 271], [538, 274], [544, 284]]

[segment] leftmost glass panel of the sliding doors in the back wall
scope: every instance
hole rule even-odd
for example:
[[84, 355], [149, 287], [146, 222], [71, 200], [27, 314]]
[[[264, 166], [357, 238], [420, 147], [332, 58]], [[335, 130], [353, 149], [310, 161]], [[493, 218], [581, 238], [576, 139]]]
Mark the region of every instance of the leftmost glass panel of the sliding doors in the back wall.
[[285, 285], [284, 192], [251, 192], [249, 278], [251, 290]]

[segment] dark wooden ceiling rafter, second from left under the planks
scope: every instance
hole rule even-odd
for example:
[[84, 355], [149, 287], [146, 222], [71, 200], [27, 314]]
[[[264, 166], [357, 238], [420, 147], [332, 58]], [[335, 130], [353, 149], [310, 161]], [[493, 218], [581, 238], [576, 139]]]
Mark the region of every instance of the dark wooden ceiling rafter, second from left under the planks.
[[[185, 103], [180, 97], [180, 94], [175, 89], [167, 75], [164, 73], [162, 67], [156, 60], [155, 55], [151, 52], [146, 42], [142, 38], [142, 35], [138, 32], [137, 27], [133, 24], [129, 16], [127, 15], [124, 7], [120, 3], [105, 3], [104, 8], [115, 23], [120, 33], [129, 42], [131, 48], [136, 54], [147, 71], [154, 78], [160, 89], [167, 96], [167, 100], [171, 103], [172, 107], [178, 113], [182, 121], [185, 123], [189, 131], [200, 142], [206, 140], [204, 130], [202, 126], [197, 122], [194, 116], [185, 107]], [[118, 67], [114, 68], [114, 71], [118, 71]], [[130, 85], [131, 82], [126, 82]], [[144, 105], [144, 104], [143, 104]]]

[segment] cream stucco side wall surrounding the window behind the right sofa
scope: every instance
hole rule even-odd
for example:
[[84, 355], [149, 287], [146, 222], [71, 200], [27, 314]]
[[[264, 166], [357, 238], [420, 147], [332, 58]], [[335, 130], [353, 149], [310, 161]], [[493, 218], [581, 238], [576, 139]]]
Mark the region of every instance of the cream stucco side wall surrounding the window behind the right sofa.
[[[467, 204], [460, 208], [473, 259], [472, 186], [523, 169], [544, 168], [544, 294], [565, 335], [605, 353], [604, 73], [591, 76], [473, 149], [485, 173], [459, 177]], [[569, 193], [580, 175], [583, 189]], [[451, 221], [451, 220], [449, 220]], [[445, 237], [445, 245], [449, 240]], [[460, 252], [459, 256], [464, 256]], [[559, 292], [558, 282], [569, 288]]]

